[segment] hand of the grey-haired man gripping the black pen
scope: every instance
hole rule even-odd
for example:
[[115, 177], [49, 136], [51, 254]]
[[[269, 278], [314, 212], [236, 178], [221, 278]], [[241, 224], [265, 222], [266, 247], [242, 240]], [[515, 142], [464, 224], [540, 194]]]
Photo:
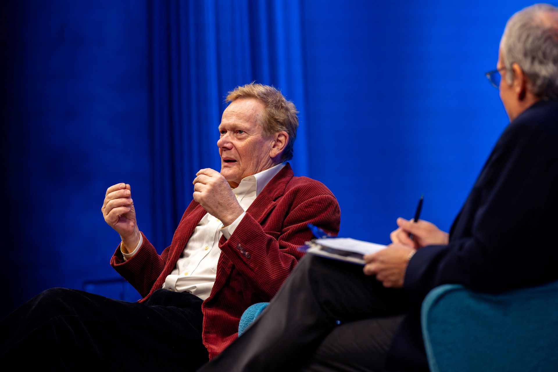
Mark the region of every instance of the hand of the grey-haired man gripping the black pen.
[[[445, 245], [449, 243], [449, 234], [437, 228], [429, 221], [418, 220], [415, 222], [404, 218], [397, 219], [397, 230], [389, 235], [393, 243], [405, 244], [415, 249], [426, 247], [427, 245]], [[409, 234], [415, 235], [411, 240]]]

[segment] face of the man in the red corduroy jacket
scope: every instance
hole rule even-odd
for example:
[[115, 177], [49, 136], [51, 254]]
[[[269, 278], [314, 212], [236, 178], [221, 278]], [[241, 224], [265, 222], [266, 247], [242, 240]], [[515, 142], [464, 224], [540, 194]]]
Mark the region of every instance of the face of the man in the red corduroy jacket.
[[217, 141], [221, 174], [234, 187], [242, 178], [274, 165], [270, 157], [273, 138], [265, 136], [258, 123], [264, 109], [257, 99], [239, 98], [223, 112]]

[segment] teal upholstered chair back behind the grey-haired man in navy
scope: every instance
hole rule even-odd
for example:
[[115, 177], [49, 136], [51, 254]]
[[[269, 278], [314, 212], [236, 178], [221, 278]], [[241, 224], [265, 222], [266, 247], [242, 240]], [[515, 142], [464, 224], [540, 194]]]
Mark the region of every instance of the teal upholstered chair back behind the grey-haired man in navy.
[[432, 372], [558, 370], [558, 282], [500, 294], [440, 286], [421, 322]]

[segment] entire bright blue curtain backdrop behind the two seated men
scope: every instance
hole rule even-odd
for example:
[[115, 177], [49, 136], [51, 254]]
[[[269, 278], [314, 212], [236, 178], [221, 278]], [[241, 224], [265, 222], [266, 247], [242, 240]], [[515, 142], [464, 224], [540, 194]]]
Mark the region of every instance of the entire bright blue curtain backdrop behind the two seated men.
[[110, 282], [105, 190], [130, 183], [165, 248], [195, 172], [219, 167], [227, 91], [250, 81], [299, 108], [292, 165], [338, 197], [341, 235], [387, 243], [421, 194], [449, 229], [507, 124], [483, 73], [529, 4], [2, 2], [0, 316], [55, 286], [137, 299]]

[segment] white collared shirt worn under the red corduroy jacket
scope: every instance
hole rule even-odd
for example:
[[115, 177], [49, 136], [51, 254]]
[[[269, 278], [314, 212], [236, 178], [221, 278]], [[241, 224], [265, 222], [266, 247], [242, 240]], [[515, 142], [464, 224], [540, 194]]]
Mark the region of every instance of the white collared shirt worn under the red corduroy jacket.
[[[223, 226], [221, 221], [206, 213], [194, 229], [182, 255], [176, 262], [176, 268], [166, 277], [162, 288], [176, 292], [189, 292], [204, 300], [208, 298], [217, 274], [217, 262], [221, 254], [219, 249], [221, 235], [225, 235], [227, 239], [230, 238], [246, 214], [248, 207], [256, 200], [271, 178], [284, 166], [285, 163], [278, 164], [240, 181], [233, 192], [244, 213], [229, 226]], [[142, 243], [143, 238], [140, 239], [134, 252], [129, 254], [122, 252], [124, 259], [132, 258]]]

